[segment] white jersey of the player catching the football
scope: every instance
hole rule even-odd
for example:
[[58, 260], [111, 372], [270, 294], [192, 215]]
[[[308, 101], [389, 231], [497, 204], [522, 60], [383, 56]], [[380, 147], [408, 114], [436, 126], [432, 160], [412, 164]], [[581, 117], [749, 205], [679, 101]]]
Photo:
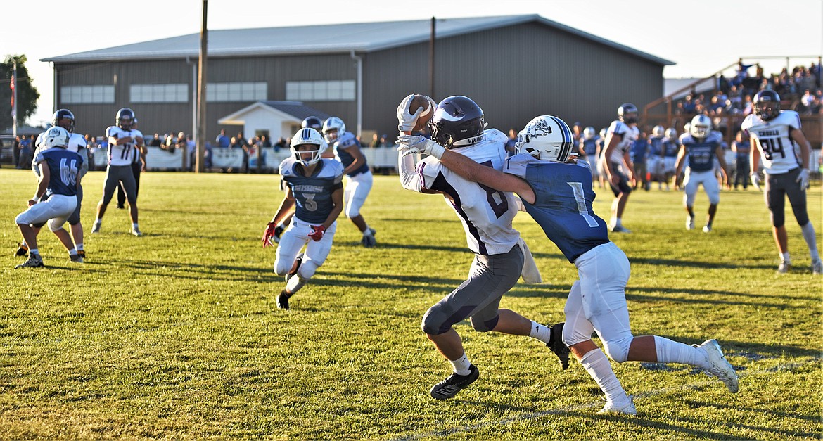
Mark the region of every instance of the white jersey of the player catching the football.
[[[494, 128], [483, 132], [481, 142], [452, 149], [481, 165], [503, 169], [508, 137]], [[508, 253], [520, 234], [512, 228], [518, 205], [512, 193], [504, 193], [463, 179], [432, 156], [417, 165], [421, 187], [444, 193], [466, 231], [468, 248], [482, 255]]]

